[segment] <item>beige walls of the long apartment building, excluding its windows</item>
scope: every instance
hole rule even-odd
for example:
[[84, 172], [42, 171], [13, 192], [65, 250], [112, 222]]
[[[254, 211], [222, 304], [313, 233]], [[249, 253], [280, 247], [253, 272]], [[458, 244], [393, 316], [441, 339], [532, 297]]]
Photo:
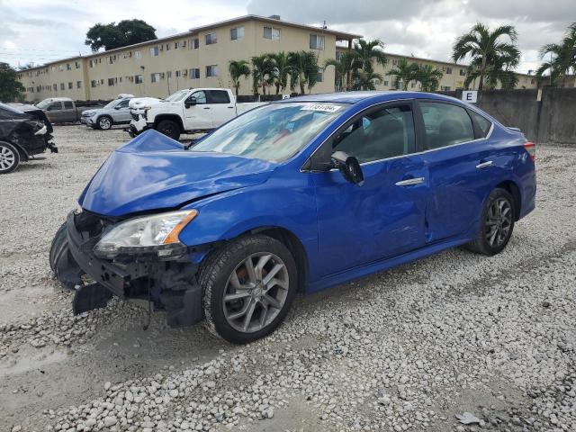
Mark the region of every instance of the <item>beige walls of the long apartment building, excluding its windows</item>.
[[[280, 29], [280, 40], [265, 39], [265, 26], [274, 26]], [[230, 29], [236, 27], [244, 27], [244, 37], [240, 40], [231, 40]], [[206, 45], [205, 36], [211, 32], [216, 33], [218, 41]], [[322, 29], [309, 31], [295, 28], [282, 21], [271, 24], [247, 20], [244, 23], [235, 23], [206, 31], [185, 33], [167, 40], [148, 42], [130, 49], [118, 49], [87, 58], [63, 60], [40, 69], [24, 71], [20, 76], [27, 89], [34, 87], [33, 92], [26, 92], [26, 99], [29, 101], [56, 96], [66, 96], [76, 100], [108, 100], [121, 93], [165, 97], [167, 94], [182, 88], [231, 87], [228, 72], [230, 60], [245, 59], [249, 61], [253, 56], [266, 52], [311, 50], [310, 35], [312, 33], [323, 34], [325, 37], [324, 49], [314, 50], [319, 57], [320, 66], [325, 59], [336, 57], [336, 36], [334, 34], [322, 31]], [[198, 49], [193, 49], [193, 45], [191, 45], [195, 38], [199, 39]], [[175, 42], [179, 42], [178, 48], [175, 48]], [[182, 42], [185, 42], [185, 47], [182, 46]], [[169, 46], [169, 49], [166, 46]], [[154, 47], [158, 47], [158, 56], [156, 57], [150, 54], [150, 49]], [[139, 58], [136, 56], [137, 51], [139, 51]], [[110, 63], [111, 57], [112, 64]], [[79, 69], [75, 68], [76, 61], [80, 65]], [[72, 70], [67, 70], [67, 63], [73, 65]], [[206, 67], [211, 65], [218, 67], [218, 76], [206, 76]], [[60, 70], [60, 66], [63, 66], [63, 70]], [[190, 69], [193, 67], [200, 69], [199, 79], [191, 78]], [[43, 72], [45, 69], [49, 71], [46, 74]], [[161, 75], [158, 82], [153, 83], [151, 75], [156, 73], [164, 75]], [[137, 75], [143, 77], [142, 84], [136, 84], [135, 76]], [[109, 79], [112, 79], [111, 83], [109, 83]], [[76, 81], [82, 81], [82, 88], [76, 89]], [[68, 89], [68, 82], [73, 82], [73, 89]], [[60, 83], [65, 83], [64, 90], [60, 89]], [[58, 85], [56, 91], [53, 89], [53, 84]], [[37, 86], [40, 86], [40, 91]], [[334, 70], [329, 69], [324, 72], [322, 82], [312, 88], [312, 92], [329, 93], [333, 91]], [[251, 77], [241, 81], [239, 93], [252, 94]], [[275, 88], [267, 89], [267, 93], [275, 93]], [[286, 89], [284, 93], [290, 93], [290, 89]]]

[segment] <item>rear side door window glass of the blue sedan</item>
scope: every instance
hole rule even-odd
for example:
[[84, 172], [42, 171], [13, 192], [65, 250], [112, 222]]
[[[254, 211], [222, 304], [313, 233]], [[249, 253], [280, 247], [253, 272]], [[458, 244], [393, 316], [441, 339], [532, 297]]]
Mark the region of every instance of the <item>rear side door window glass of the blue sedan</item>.
[[420, 102], [427, 148], [443, 148], [474, 139], [472, 119], [451, 103]]

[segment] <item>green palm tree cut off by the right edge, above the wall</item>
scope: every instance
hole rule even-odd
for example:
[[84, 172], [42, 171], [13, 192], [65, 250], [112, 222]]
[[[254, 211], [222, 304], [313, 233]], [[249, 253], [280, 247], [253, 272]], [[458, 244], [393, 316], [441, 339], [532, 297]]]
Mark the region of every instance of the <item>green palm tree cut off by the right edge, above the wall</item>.
[[536, 70], [536, 76], [544, 76], [547, 72], [551, 84], [566, 85], [566, 76], [576, 74], [576, 23], [568, 26], [560, 43], [548, 43], [542, 47], [540, 59], [544, 61]]

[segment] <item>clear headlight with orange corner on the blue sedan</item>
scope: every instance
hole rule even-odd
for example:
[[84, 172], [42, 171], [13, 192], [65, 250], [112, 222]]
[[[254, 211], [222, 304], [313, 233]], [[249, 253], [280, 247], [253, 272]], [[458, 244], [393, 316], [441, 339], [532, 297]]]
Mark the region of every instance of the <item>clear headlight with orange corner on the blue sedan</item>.
[[173, 257], [185, 249], [178, 235], [197, 214], [195, 210], [169, 211], [126, 220], [103, 235], [94, 254], [106, 258], [142, 253]]

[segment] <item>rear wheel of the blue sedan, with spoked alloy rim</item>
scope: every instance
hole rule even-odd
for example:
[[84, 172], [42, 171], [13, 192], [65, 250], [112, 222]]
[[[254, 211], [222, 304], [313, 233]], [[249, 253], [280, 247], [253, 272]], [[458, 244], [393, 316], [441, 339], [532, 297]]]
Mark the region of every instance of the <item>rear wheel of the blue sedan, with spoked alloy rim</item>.
[[512, 237], [514, 208], [514, 198], [508, 191], [494, 189], [484, 204], [476, 239], [466, 248], [489, 257], [499, 254]]

